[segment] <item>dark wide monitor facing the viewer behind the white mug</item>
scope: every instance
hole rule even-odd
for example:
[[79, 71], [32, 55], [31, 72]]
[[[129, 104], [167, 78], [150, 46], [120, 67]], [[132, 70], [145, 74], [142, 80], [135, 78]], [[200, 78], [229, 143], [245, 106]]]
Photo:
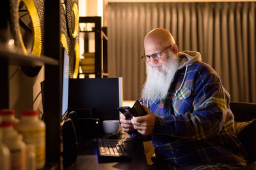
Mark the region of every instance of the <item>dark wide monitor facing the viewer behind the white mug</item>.
[[[84, 113], [84, 118], [119, 120], [119, 106], [122, 106], [122, 78], [69, 80], [68, 110], [75, 110], [77, 117]], [[88, 111], [92, 115], [86, 114]]]

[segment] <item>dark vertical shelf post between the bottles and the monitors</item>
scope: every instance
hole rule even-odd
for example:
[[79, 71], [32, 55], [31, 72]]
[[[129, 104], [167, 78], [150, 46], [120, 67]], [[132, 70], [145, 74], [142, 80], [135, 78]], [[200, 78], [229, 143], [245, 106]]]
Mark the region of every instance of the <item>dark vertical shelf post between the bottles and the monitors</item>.
[[[45, 55], [60, 60], [60, 1], [45, 1]], [[46, 167], [61, 167], [61, 69], [45, 65]]]

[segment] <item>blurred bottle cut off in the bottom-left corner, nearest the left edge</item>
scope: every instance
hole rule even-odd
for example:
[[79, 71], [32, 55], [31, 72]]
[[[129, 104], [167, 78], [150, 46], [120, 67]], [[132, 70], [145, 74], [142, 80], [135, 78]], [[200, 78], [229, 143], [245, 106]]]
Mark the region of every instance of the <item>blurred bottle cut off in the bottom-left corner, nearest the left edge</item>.
[[[0, 117], [1, 124], [1, 117]], [[6, 145], [2, 142], [3, 140], [3, 132], [0, 128], [0, 169], [1, 170], [10, 170], [10, 152]]]

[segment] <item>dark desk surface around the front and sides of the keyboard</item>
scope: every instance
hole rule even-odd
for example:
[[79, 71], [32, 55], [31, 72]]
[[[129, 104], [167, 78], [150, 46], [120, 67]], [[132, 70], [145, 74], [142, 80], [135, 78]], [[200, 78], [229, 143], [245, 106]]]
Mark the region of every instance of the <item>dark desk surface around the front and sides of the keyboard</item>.
[[92, 141], [90, 144], [82, 142], [78, 145], [76, 162], [65, 169], [152, 169], [147, 165], [143, 142], [140, 139], [130, 138], [129, 141], [125, 142], [125, 149], [132, 156], [131, 161], [99, 163], [97, 158], [97, 142]]

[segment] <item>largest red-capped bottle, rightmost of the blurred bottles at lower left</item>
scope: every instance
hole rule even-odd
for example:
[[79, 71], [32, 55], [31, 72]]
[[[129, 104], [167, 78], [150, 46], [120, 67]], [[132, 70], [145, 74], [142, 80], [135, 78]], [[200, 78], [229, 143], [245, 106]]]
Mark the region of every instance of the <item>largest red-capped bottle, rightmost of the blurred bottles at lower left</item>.
[[27, 145], [35, 145], [36, 169], [45, 164], [45, 123], [38, 118], [38, 111], [26, 110], [20, 113], [20, 122], [16, 129], [23, 135]]

